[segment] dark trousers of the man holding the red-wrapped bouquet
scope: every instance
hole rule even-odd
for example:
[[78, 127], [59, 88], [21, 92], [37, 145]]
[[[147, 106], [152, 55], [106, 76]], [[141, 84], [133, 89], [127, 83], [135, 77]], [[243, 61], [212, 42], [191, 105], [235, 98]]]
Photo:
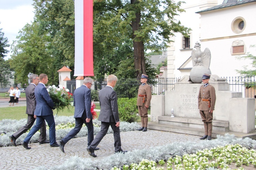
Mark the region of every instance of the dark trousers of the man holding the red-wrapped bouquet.
[[75, 127], [72, 129], [63, 139], [61, 139], [65, 144], [72, 139], [77, 133], [80, 132], [83, 124], [85, 123], [87, 129], [88, 129], [88, 146], [91, 145], [91, 142], [94, 139], [94, 128], [93, 128], [93, 119], [91, 119], [88, 123], [85, 119], [82, 118], [75, 118]]

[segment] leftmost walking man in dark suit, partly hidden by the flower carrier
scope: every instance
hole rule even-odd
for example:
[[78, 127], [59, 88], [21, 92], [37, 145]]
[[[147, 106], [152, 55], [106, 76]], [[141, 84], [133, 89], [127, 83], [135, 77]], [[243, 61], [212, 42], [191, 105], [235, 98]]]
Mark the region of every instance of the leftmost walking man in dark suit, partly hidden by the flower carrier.
[[[35, 90], [35, 86], [37, 86], [39, 83], [39, 77], [37, 74], [32, 74], [29, 79], [31, 83], [26, 88], [26, 103], [27, 103], [26, 114], [28, 114], [28, 121], [25, 126], [20, 128], [17, 132], [15, 132], [10, 136], [11, 143], [13, 146], [17, 146], [16, 139], [23, 133], [27, 132], [32, 127], [32, 125], [34, 124], [35, 118], [37, 117], [34, 115], [35, 106], [37, 104], [37, 102], [35, 101], [34, 90]], [[43, 124], [40, 128], [39, 143], [43, 144], [43, 143], [49, 143], [49, 142], [50, 142], [49, 140], [46, 140], [45, 121], [43, 121]]]

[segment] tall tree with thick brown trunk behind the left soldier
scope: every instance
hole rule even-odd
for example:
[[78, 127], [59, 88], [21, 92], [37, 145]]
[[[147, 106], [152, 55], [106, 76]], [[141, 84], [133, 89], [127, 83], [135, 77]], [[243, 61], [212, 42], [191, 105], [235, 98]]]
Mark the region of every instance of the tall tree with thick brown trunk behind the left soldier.
[[181, 3], [172, 0], [94, 0], [94, 13], [99, 15], [104, 26], [115, 26], [109, 32], [125, 34], [132, 39], [138, 78], [146, 73], [144, 51], [164, 49], [175, 32], [187, 35], [190, 31], [175, 19], [184, 11], [180, 8]]

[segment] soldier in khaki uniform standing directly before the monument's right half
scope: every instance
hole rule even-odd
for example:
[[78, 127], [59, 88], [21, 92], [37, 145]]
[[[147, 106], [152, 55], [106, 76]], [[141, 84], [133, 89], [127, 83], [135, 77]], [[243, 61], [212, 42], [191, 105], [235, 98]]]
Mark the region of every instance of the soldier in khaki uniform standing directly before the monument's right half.
[[215, 88], [208, 82], [209, 74], [203, 74], [202, 82], [198, 95], [198, 108], [204, 125], [204, 136], [200, 140], [212, 140], [212, 119], [216, 101]]

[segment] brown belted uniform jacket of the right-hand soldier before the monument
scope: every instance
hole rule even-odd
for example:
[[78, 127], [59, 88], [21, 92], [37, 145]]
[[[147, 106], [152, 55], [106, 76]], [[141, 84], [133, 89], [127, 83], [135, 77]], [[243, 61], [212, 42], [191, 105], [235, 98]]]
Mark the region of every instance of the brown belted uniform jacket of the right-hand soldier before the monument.
[[[198, 108], [200, 111], [214, 110], [216, 101], [215, 88], [210, 84], [206, 87], [203, 86], [204, 85], [202, 85], [199, 90]], [[208, 101], [202, 101], [202, 99], [211, 99], [211, 107], [208, 107]]]

